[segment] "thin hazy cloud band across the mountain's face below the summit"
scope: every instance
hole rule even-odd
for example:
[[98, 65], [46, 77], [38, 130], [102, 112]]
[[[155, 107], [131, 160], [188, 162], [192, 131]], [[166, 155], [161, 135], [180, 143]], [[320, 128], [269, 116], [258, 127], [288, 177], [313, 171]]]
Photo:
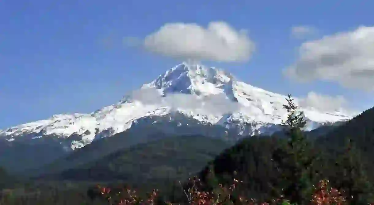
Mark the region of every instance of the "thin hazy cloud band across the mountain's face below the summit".
[[232, 102], [224, 94], [197, 97], [188, 94], [169, 94], [161, 97], [161, 94], [154, 88], [142, 88], [132, 92], [133, 100], [144, 104], [171, 107], [174, 110], [198, 111], [199, 113], [215, 114], [217, 116], [232, 113], [239, 109], [237, 102]]

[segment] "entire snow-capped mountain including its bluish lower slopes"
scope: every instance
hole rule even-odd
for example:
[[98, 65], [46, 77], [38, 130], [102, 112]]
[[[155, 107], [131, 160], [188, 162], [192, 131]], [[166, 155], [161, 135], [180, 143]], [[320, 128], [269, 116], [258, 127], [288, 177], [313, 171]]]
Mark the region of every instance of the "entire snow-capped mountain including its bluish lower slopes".
[[[271, 134], [279, 130], [279, 123], [286, 117], [284, 98], [241, 82], [215, 67], [182, 63], [116, 104], [92, 113], [58, 114], [0, 130], [0, 147], [7, 154], [0, 156], [0, 165], [20, 171], [21, 162], [28, 160], [33, 161], [28, 165], [36, 168], [143, 123], [157, 126], [163, 133], [173, 133], [181, 126], [192, 130], [193, 126], [194, 133], [187, 134], [220, 138]], [[354, 116], [343, 110], [301, 110], [307, 119], [306, 130]], [[209, 127], [209, 131], [202, 127]]]

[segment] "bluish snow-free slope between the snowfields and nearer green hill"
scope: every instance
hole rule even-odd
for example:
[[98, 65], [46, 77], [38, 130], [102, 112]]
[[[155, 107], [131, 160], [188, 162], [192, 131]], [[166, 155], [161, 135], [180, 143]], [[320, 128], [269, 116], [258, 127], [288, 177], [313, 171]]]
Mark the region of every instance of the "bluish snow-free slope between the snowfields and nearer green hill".
[[[162, 117], [157, 118], [157, 121], [162, 121], [160, 118]], [[169, 119], [169, 117], [165, 118], [165, 120]], [[153, 121], [154, 120], [150, 121], [147, 118], [138, 120], [138, 122], [134, 123], [130, 129], [117, 133], [110, 138], [95, 140], [89, 146], [77, 149], [70, 154], [62, 155], [59, 158], [47, 158], [44, 161], [49, 161], [41, 167], [40, 164], [38, 165], [38, 161], [34, 161], [33, 166], [28, 167], [27, 170], [23, 171], [23, 174], [26, 176], [38, 176], [44, 173], [59, 173], [91, 161], [99, 160], [106, 155], [127, 149], [136, 144], [153, 142], [164, 138], [200, 135], [200, 133], [205, 134], [204, 136], [223, 138], [221, 133], [225, 133], [224, 139], [226, 139], [225, 141], [227, 143], [232, 143], [236, 140], [235, 133], [226, 133], [224, 132], [225, 129], [221, 126], [200, 126], [200, 124], [197, 124], [199, 123], [197, 120], [195, 123], [193, 123], [194, 121], [188, 120], [188, 126], [178, 126], [178, 124], [183, 123], [183, 119], [181, 118], [169, 123], [160, 123], [160, 125], [153, 123]], [[55, 156], [46, 155], [46, 157]], [[6, 156], [6, 158], [8, 159], [9, 156]], [[18, 160], [19, 164], [23, 164], [23, 161], [28, 160], [28, 158]]]

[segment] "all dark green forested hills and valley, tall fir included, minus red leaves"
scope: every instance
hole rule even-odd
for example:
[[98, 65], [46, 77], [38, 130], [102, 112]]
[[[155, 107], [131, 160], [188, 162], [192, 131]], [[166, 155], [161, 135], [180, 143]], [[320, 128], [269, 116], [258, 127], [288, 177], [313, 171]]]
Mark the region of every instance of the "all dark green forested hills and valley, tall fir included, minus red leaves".
[[239, 194], [263, 202], [282, 196], [291, 204], [310, 204], [313, 185], [323, 179], [346, 197], [346, 204], [373, 203], [374, 108], [324, 132], [305, 133], [303, 117], [295, 114], [291, 96], [287, 100], [289, 116], [281, 134], [251, 136], [235, 145], [197, 135], [159, 139], [34, 179], [0, 170], [0, 204], [108, 204], [96, 184], [135, 187], [139, 193], [156, 188], [157, 200], [187, 204], [183, 189], [194, 175], [201, 190], [209, 192], [233, 179], [242, 181], [232, 204], [239, 204]]

